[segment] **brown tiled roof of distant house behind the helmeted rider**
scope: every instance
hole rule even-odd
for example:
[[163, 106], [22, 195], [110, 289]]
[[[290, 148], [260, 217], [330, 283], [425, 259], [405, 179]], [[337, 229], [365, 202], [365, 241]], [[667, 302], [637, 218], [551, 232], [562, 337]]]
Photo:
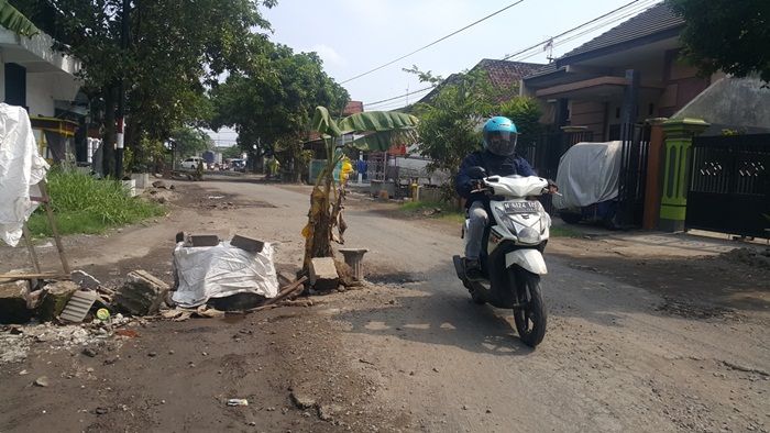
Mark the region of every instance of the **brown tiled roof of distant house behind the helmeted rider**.
[[[515, 96], [519, 95], [519, 84], [521, 79], [529, 76], [537, 70], [541, 69], [544, 65], [539, 63], [524, 63], [524, 62], [509, 62], [509, 60], [496, 60], [492, 58], [484, 58], [479, 62], [474, 67], [472, 67], [469, 73], [476, 70], [484, 70], [486, 76], [490, 78], [490, 84], [493, 89], [498, 93], [496, 102], [507, 101]], [[428, 95], [422, 97], [419, 102], [430, 103], [430, 101], [436, 98], [441, 89], [455, 82], [460, 78], [459, 74], [452, 74], [441, 84], [436, 86]]]

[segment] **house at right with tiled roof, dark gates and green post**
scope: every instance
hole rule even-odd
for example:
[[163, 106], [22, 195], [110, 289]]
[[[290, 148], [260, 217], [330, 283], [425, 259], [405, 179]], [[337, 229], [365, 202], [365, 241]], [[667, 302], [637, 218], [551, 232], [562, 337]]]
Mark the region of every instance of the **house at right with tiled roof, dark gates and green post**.
[[680, 55], [684, 25], [659, 3], [525, 77], [556, 137], [525, 140], [530, 160], [556, 175], [572, 144], [619, 140], [614, 225], [767, 237], [770, 91], [700, 76]]

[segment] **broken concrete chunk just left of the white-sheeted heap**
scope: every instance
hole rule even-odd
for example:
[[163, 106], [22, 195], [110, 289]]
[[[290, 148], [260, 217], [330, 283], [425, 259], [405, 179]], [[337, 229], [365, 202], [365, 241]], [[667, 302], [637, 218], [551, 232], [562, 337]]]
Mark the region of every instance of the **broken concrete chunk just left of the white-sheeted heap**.
[[133, 270], [116, 292], [113, 303], [119, 310], [133, 315], [155, 314], [167, 292], [167, 284], [146, 270]]

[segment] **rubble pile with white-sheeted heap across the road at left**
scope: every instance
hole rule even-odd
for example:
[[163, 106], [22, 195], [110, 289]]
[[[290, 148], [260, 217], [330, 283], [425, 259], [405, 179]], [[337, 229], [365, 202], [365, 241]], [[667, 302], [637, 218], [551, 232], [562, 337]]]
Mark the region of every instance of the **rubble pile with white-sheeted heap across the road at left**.
[[272, 244], [241, 235], [221, 241], [179, 233], [173, 259], [174, 287], [142, 269], [129, 273], [116, 288], [82, 270], [62, 280], [11, 271], [19, 277], [0, 280], [0, 364], [23, 360], [35, 345], [66, 349], [133, 337], [136, 332], [127, 326], [150, 319], [185, 321], [279, 304], [308, 307], [312, 302], [293, 299], [309, 287], [331, 291], [361, 284], [349, 265], [326, 257], [312, 259], [309, 276], [282, 275], [279, 287]]

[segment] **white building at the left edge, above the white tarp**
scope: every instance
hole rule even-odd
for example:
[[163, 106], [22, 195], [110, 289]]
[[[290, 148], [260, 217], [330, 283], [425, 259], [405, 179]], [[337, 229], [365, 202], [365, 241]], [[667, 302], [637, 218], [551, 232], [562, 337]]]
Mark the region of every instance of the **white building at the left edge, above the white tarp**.
[[[19, 14], [8, 3], [3, 3], [2, 13]], [[0, 23], [0, 100], [26, 109], [45, 157], [74, 159], [72, 142], [77, 123], [72, 120], [87, 113], [87, 102], [78, 93], [81, 82], [76, 77], [80, 63], [53, 51], [53, 43], [34, 26]]]

